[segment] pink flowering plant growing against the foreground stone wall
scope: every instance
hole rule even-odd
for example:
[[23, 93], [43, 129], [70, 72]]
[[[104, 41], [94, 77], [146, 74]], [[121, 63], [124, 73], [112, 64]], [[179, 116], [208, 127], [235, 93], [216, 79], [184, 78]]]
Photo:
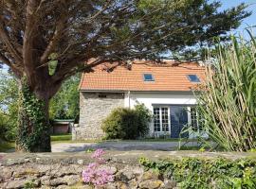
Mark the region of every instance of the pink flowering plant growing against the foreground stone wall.
[[110, 181], [114, 181], [113, 173], [107, 169], [102, 168], [101, 164], [106, 163], [102, 158], [105, 152], [102, 149], [97, 149], [91, 156], [95, 163], [89, 165], [82, 171], [82, 180], [85, 183], [93, 184], [94, 186], [101, 186]]

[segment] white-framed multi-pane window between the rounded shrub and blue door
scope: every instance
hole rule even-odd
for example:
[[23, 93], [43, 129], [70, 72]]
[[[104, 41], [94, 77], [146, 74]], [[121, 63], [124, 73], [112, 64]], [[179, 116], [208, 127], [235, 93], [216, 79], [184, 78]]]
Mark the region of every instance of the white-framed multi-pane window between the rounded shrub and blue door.
[[170, 108], [154, 107], [154, 131], [170, 132]]

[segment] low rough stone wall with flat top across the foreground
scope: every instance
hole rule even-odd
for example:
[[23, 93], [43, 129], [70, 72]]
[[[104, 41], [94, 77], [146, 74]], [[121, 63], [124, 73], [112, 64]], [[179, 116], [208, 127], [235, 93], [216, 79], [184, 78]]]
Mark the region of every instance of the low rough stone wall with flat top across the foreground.
[[[82, 169], [93, 160], [91, 154], [43, 153], [43, 154], [0, 154], [0, 188], [91, 188], [82, 183]], [[145, 171], [138, 163], [139, 157], [151, 160], [159, 158], [223, 156], [230, 159], [254, 156], [249, 153], [199, 153], [164, 151], [108, 151], [107, 163], [102, 165], [115, 174], [115, 182], [97, 188], [178, 188], [176, 183], [161, 178], [155, 172]]]

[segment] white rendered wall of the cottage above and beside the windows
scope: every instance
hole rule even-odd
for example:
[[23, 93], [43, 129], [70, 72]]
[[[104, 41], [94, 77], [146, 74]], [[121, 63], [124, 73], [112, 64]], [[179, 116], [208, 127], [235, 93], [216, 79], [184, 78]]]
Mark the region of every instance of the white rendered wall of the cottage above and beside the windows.
[[[153, 105], [194, 105], [196, 99], [192, 93], [177, 94], [177, 93], [143, 93], [131, 92], [126, 93], [124, 97], [124, 106], [134, 108], [137, 103], [143, 103], [151, 112]], [[190, 119], [189, 119], [190, 122]], [[150, 124], [150, 134], [154, 133], [154, 124]]]

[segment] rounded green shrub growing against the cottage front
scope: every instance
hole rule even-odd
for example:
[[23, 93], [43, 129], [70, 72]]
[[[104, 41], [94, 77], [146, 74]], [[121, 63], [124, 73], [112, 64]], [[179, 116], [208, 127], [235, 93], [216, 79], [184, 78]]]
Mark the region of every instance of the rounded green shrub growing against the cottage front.
[[151, 117], [144, 105], [135, 109], [118, 108], [103, 121], [101, 129], [106, 139], [137, 139], [147, 135]]

